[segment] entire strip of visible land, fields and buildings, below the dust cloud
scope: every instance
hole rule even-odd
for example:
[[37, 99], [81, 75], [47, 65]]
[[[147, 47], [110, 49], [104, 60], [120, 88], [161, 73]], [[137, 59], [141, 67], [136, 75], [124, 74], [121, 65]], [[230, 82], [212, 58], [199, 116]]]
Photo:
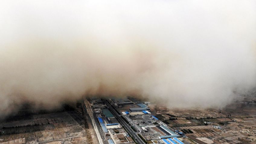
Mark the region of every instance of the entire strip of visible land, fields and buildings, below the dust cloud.
[[85, 97], [54, 111], [33, 112], [24, 108], [17, 115], [1, 120], [0, 143], [254, 143], [255, 100], [244, 101], [245, 97], [241, 97], [236, 105], [229, 105], [224, 110], [187, 110], [168, 109], [132, 97]]

